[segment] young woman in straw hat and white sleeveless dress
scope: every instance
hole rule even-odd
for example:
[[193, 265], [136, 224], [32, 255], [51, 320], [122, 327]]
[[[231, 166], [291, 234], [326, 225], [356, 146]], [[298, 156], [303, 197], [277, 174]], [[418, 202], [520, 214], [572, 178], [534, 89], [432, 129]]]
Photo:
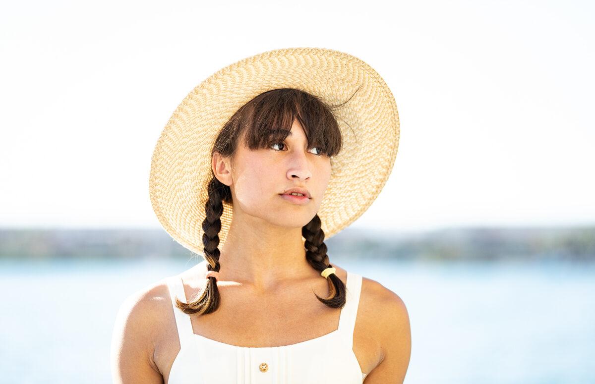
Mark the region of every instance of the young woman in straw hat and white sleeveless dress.
[[190, 92], [150, 191], [164, 229], [204, 260], [122, 304], [114, 382], [402, 383], [405, 304], [331, 265], [324, 244], [378, 196], [398, 138], [384, 81], [330, 49], [260, 53]]

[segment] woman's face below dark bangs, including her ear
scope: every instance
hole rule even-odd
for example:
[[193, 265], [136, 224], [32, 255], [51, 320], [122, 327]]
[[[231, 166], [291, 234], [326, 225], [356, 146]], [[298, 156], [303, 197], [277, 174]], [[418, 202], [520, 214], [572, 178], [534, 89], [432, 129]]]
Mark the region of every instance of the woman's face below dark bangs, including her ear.
[[[320, 148], [307, 145], [305, 133], [296, 119], [291, 134], [268, 149], [250, 150], [240, 144], [231, 169], [228, 159], [214, 158], [215, 175], [231, 188], [234, 217], [247, 214], [287, 228], [308, 224], [324, 197], [331, 163], [327, 155], [317, 155]], [[310, 199], [300, 204], [281, 196], [294, 187], [308, 190]]]

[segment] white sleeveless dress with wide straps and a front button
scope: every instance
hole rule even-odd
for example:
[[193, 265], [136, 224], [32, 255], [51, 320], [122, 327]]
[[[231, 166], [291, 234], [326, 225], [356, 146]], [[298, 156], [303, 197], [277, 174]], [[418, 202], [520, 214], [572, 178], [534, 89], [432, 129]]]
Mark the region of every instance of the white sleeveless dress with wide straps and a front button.
[[353, 353], [353, 329], [358, 312], [362, 276], [347, 272], [347, 298], [339, 328], [326, 335], [280, 347], [238, 347], [197, 335], [190, 315], [174, 303], [187, 303], [179, 276], [167, 278], [180, 352], [171, 366], [168, 384], [361, 384]]

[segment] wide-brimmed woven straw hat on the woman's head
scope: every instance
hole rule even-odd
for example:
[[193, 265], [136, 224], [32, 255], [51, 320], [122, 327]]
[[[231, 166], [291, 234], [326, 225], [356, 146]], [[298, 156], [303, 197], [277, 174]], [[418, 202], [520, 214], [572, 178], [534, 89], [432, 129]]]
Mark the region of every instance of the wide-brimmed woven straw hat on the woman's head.
[[[161, 225], [178, 243], [203, 253], [202, 222], [211, 180], [211, 149], [227, 120], [268, 90], [295, 88], [327, 104], [343, 135], [333, 156], [318, 216], [325, 238], [359, 218], [384, 187], [399, 146], [399, 114], [384, 80], [361, 59], [324, 48], [288, 48], [259, 53], [212, 74], [176, 108], [151, 160], [149, 195]], [[348, 198], [346, 198], [348, 197]], [[224, 203], [220, 245], [233, 216]]]

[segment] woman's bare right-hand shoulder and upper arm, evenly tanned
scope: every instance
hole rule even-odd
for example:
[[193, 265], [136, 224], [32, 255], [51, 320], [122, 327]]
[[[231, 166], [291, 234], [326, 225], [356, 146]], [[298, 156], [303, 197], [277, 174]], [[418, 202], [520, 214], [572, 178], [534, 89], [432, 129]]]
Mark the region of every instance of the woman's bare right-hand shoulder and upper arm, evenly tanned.
[[372, 279], [362, 279], [361, 304], [380, 348], [380, 363], [366, 383], [402, 383], [411, 356], [411, 326], [403, 300]]

